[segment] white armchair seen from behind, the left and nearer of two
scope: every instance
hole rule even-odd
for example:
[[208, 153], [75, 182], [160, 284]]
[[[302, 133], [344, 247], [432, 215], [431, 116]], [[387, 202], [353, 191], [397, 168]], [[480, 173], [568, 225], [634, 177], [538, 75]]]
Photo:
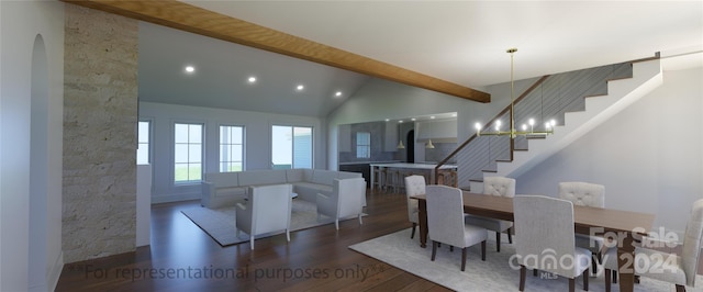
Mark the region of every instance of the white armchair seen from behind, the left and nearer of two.
[[290, 242], [291, 184], [249, 187], [246, 205], [236, 204], [237, 237], [239, 232], [249, 235], [249, 246], [254, 249], [257, 235], [286, 231]]

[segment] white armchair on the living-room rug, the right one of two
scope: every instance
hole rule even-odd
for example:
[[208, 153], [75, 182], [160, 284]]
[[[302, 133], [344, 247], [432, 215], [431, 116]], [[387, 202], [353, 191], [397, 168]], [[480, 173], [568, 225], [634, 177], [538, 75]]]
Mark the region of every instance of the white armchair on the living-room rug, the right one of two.
[[334, 218], [334, 226], [339, 229], [339, 218], [356, 215], [361, 222], [366, 203], [366, 180], [364, 178], [335, 179], [331, 194], [317, 193], [317, 220], [321, 215]]

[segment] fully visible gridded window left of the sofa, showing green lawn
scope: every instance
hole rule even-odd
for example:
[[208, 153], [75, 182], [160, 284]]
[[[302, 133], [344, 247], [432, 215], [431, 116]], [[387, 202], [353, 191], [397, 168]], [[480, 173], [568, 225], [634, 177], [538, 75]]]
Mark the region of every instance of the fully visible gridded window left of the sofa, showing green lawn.
[[202, 124], [174, 126], [174, 181], [194, 182], [202, 178]]

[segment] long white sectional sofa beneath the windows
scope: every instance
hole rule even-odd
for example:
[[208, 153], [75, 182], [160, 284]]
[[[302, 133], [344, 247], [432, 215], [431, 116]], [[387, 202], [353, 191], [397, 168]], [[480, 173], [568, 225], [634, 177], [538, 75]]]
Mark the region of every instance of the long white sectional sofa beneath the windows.
[[274, 169], [210, 172], [202, 182], [203, 206], [215, 209], [244, 200], [249, 186], [290, 183], [298, 198], [315, 202], [317, 193], [330, 194], [335, 179], [361, 178], [361, 173], [320, 169]]

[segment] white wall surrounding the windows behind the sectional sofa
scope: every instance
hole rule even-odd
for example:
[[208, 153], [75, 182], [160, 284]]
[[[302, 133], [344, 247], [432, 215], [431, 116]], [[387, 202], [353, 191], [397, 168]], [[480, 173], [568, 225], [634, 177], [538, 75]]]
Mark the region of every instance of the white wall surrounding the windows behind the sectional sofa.
[[[217, 172], [220, 125], [245, 127], [244, 169], [271, 168], [271, 125], [313, 127], [314, 167], [325, 168], [326, 132], [323, 120], [313, 116], [246, 112], [153, 102], [140, 102], [140, 120], [152, 120], [152, 203], [200, 199], [200, 184], [176, 187], [172, 183], [172, 141], [175, 122], [193, 122], [205, 125], [204, 172]], [[254, 146], [254, 147], [253, 147]]]

